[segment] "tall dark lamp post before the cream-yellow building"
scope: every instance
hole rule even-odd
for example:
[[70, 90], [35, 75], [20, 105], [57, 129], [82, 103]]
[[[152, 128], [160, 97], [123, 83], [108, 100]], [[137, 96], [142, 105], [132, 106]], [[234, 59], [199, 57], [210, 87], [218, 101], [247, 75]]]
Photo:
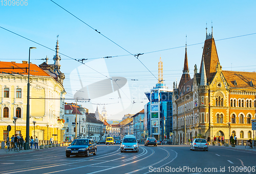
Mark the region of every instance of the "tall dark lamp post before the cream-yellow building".
[[30, 73], [30, 49], [36, 49], [35, 47], [29, 47], [29, 72], [28, 72], [28, 90], [27, 90], [27, 117], [26, 117], [26, 145], [24, 149], [29, 149], [29, 96], [30, 96], [30, 83], [29, 83], [29, 73]]

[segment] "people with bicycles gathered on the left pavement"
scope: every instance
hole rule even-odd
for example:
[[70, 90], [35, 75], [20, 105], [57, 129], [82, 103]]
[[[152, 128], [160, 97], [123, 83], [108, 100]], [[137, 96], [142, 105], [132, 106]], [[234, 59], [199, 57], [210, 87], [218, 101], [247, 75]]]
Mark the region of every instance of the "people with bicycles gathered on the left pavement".
[[[12, 135], [11, 138], [9, 138], [9, 137], [7, 136], [6, 139], [7, 139], [7, 140], [6, 140], [6, 143], [7, 143], [7, 144], [10, 143], [10, 145], [11, 145], [12, 148], [14, 148], [14, 147], [15, 147], [15, 144], [16, 144], [17, 147], [20, 145], [20, 148], [23, 149], [25, 140], [24, 140], [22, 134], [20, 134], [19, 136], [18, 136], [18, 134]], [[38, 143], [39, 143], [39, 140], [38, 140], [37, 137], [35, 137], [35, 139], [33, 139], [32, 136], [29, 138], [29, 144], [30, 144], [30, 147], [29, 147], [29, 148], [30, 148], [30, 149], [32, 149], [33, 145], [35, 145], [35, 149], [36, 149], [36, 148], [38, 149]]]

